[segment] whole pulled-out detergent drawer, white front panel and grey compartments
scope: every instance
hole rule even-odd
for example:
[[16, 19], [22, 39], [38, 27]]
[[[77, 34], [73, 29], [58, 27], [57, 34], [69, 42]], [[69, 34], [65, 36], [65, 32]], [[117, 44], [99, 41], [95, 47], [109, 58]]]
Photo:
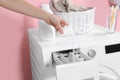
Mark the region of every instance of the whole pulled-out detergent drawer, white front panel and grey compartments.
[[56, 80], [99, 80], [96, 59], [90, 59], [79, 49], [56, 51], [52, 58]]

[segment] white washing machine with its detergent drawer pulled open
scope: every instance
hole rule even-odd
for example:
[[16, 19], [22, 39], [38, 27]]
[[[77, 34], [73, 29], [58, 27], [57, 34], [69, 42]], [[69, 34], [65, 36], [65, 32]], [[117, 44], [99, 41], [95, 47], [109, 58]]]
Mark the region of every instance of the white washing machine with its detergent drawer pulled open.
[[[38, 29], [28, 33], [33, 80], [120, 80], [120, 33], [107, 34], [98, 25], [87, 34], [55, 41], [40, 40]], [[77, 49], [83, 59], [61, 58]]]

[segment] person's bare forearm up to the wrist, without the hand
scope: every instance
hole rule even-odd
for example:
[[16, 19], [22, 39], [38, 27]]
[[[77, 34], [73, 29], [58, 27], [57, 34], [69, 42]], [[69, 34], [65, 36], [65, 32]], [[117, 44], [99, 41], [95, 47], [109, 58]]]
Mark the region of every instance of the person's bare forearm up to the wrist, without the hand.
[[0, 0], [0, 6], [42, 20], [47, 20], [50, 15], [48, 12], [37, 8], [24, 0]]

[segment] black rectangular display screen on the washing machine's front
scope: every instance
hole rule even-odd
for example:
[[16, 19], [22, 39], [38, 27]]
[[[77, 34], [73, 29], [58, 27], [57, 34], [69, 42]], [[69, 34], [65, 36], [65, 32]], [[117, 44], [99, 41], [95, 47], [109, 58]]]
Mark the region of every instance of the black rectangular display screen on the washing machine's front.
[[120, 52], [120, 44], [113, 44], [105, 46], [106, 54]]

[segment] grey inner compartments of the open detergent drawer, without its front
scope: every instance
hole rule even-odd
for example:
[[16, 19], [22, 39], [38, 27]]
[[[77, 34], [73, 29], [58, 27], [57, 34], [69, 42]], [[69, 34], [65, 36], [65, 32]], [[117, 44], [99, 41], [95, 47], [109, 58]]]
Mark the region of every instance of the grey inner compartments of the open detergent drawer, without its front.
[[52, 64], [61, 65], [91, 60], [80, 48], [52, 52]]

